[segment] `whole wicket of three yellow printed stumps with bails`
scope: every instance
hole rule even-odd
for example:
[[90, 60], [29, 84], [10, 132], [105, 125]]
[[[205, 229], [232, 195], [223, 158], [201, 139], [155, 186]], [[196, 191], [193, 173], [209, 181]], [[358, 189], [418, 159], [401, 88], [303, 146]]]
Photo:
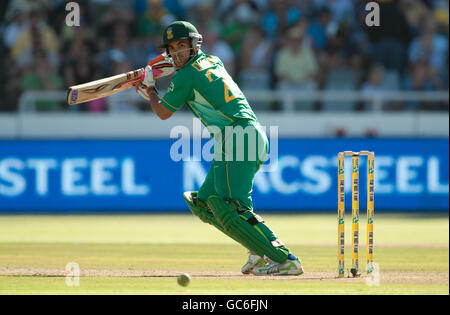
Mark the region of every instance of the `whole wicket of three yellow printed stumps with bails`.
[[367, 156], [367, 236], [366, 272], [373, 271], [373, 218], [374, 218], [374, 164], [375, 154], [370, 151], [344, 151], [338, 153], [338, 278], [344, 277], [345, 253], [345, 189], [344, 157], [352, 157], [352, 268], [353, 277], [359, 275], [359, 157]]

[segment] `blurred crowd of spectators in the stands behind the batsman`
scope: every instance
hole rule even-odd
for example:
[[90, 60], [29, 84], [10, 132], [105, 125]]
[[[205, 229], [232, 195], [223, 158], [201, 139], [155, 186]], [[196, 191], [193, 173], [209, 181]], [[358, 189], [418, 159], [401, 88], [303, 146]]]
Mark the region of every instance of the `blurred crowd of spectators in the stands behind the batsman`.
[[[380, 26], [372, 27], [366, 0], [78, 0], [80, 26], [67, 25], [67, 2], [1, 1], [0, 111], [17, 111], [26, 90], [65, 90], [143, 67], [162, 52], [162, 32], [174, 20], [197, 27], [202, 50], [220, 57], [244, 91], [448, 90], [448, 0], [378, 0]], [[167, 80], [158, 84], [164, 89]], [[148, 110], [130, 93], [70, 108], [53, 100], [36, 106]], [[279, 110], [281, 103], [254, 106]], [[328, 110], [336, 104], [296, 106]], [[443, 102], [384, 106], [448, 110]]]

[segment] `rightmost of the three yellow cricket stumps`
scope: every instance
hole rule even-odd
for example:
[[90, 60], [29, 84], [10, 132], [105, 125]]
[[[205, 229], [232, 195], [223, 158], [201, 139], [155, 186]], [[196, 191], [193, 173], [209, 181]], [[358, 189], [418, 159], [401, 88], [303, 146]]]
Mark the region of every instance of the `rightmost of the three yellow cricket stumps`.
[[366, 235], [366, 258], [367, 273], [373, 271], [373, 219], [374, 219], [374, 177], [375, 177], [375, 154], [372, 152], [367, 156], [367, 235]]

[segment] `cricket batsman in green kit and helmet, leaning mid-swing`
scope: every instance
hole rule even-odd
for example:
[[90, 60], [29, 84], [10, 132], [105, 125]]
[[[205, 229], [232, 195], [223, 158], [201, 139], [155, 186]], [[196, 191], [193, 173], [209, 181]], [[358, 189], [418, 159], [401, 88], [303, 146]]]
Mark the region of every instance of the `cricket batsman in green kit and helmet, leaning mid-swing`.
[[[167, 93], [163, 97], [158, 94], [150, 65], [136, 91], [163, 120], [186, 104], [214, 136], [214, 159], [204, 183], [198, 192], [185, 192], [183, 197], [200, 220], [248, 249], [242, 273], [301, 275], [300, 259], [253, 212], [253, 179], [267, 159], [267, 136], [222, 61], [203, 53], [201, 44], [202, 36], [191, 23], [170, 24], [163, 34], [163, 47], [173, 59], [176, 73]], [[240, 135], [245, 141], [234, 141]]]

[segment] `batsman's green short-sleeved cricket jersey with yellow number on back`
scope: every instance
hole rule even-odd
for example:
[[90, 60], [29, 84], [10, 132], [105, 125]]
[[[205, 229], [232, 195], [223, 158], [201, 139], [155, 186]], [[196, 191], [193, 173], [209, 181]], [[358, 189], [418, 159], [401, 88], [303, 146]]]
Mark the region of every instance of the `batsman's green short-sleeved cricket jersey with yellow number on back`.
[[172, 112], [186, 104], [206, 127], [217, 126], [220, 130], [241, 120], [257, 122], [222, 61], [201, 50], [176, 72], [161, 104]]

